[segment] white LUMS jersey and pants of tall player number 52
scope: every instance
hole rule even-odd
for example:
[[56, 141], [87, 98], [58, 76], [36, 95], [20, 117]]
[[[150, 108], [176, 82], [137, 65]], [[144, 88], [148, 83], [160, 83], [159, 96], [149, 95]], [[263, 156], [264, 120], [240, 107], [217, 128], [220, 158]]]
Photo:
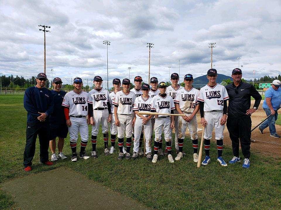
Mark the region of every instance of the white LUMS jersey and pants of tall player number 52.
[[199, 91], [198, 102], [204, 102], [204, 118], [207, 121], [204, 139], [211, 139], [215, 127], [215, 139], [223, 139], [225, 125], [220, 125], [223, 116], [224, 100], [229, 99], [225, 86], [216, 84], [211, 88], [208, 84]]

